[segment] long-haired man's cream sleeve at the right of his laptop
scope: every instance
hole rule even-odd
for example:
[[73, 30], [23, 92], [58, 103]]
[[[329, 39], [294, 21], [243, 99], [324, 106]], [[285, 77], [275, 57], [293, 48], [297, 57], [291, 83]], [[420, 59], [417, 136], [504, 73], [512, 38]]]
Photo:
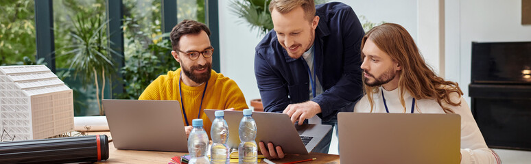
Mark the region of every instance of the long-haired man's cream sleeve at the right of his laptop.
[[451, 99], [461, 101], [460, 106], [451, 107], [461, 115], [461, 163], [500, 163], [497, 155], [486, 146], [467, 101], [455, 92], [451, 93]]

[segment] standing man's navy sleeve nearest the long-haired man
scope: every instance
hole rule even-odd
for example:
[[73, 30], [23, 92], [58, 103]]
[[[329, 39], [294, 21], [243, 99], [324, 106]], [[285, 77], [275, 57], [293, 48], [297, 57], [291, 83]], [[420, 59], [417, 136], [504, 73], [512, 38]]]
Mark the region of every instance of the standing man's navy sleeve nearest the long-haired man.
[[[344, 47], [342, 61], [344, 73], [333, 87], [313, 99], [321, 107], [321, 118], [335, 115], [339, 109], [355, 102], [363, 95], [360, 48], [365, 32], [352, 8], [342, 11], [339, 13], [342, 14], [339, 27]], [[347, 110], [352, 111], [352, 109]]]

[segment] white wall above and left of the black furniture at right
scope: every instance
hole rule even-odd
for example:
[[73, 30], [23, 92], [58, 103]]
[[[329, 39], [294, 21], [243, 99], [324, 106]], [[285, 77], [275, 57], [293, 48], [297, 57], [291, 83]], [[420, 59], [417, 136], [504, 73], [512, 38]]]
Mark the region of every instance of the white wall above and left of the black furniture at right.
[[447, 0], [446, 4], [446, 20], [451, 23], [447, 29], [458, 33], [447, 31], [447, 43], [458, 44], [447, 44], [446, 75], [459, 82], [470, 102], [471, 42], [531, 41], [531, 25], [521, 25], [520, 0]]

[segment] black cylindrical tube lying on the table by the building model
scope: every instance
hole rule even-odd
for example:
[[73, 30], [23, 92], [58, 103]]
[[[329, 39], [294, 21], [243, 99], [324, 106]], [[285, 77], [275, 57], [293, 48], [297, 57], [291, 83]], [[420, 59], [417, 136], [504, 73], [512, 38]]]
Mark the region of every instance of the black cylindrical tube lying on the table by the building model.
[[106, 135], [0, 143], [0, 163], [73, 163], [108, 158]]

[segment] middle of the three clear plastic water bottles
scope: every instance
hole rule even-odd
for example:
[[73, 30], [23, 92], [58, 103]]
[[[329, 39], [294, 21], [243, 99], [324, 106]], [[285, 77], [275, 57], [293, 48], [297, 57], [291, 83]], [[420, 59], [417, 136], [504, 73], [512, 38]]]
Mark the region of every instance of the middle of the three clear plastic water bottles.
[[210, 136], [212, 137], [212, 147], [210, 149], [211, 163], [221, 164], [228, 163], [228, 124], [223, 118], [223, 111], [215, 111], [215, 119], [212, 122]]

